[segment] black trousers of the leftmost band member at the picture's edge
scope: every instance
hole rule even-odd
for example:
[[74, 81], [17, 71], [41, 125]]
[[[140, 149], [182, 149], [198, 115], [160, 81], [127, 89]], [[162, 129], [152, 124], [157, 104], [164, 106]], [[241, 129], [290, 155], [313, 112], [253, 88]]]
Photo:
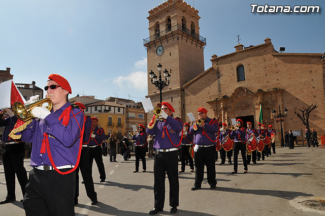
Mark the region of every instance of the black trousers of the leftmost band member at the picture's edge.
[[24, 143], [7, 144], [3, 153], [3, 164], [5, 170], [7, 196], [9, 199], [15, 199], [15, 174], [20, 184], [22, 196], [25, 195], [25, 186], [27, 183], [27, 172], [24, 167]]

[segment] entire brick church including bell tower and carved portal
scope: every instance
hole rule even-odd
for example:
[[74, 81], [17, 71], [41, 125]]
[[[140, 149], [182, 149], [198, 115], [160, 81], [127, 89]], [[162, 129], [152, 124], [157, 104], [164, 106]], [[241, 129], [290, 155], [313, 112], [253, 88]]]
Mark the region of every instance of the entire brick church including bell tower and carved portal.
[[[186, 20], [187, 27], [172, 29], [169, 35], [157, 37], [154, 29], [161, 23], [160, 32], [163, 31], [162, 27], [168, 26], [164, 22], [167, 17], [172, 26], [184, 26]], [[242, 118], [256, 126], [262, 104], [264, 124], [273, 125], [278, 134], [276, 145], [280, 145], [280, 123], [275, 121], [272, 110], [279, 114], [279, 106], [281, 113], [284, 108], [288, 109], [282, 122], [283, 131], [304, 131], [294, 109], [317, 103], [318, 108], [310, 113], [309, 125], [318, 136], [325, 133], [325, 60], [322, 53], [280, 53], [275, 51], [271, 39], [266, 38], [256, 46], [244, 48], [238, 44], [235, 52], [212, 55], [211, 67], [204, 70], [206, 41], [199, 35], [193, 37], [192, 29], [188, 29], [188, 26], [195, 26], [194, 31], [199, 34], [199, 19], [198, 11], [180, 0], [164, 2], [149, 11], [151, 37], [145, 41], [148, 71], [154, 71], [158, 63], [172, 70], [171, 84], [163, 90], [163, 101], [174, 106], [174, 116], [189, 121], [187, 113], [192, 112], [197, 117], [198, 107], [205, 107], [210, 117], [220, 113], [222, 122]], [[169, 36], [174, 36], [175, 40]], [[158, 46], [164, 47], [162, 55], [156, 54]], [[147, 97], [154, 105], [159, 102], [159, 90], [151, 84], [149, 76]]]

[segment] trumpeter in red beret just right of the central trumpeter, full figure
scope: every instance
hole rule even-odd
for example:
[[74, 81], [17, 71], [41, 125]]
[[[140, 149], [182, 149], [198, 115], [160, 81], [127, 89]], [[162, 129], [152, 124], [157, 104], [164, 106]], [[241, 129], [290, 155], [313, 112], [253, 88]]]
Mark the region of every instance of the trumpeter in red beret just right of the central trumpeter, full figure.
[[219, 132], [218, 121], [208, 117], [207, 110], [203, 107], [198, 109], [198, 120], [201, 125], [192, 125], [189, 132], [194, 134], [194, 163], [195, 163], [195, 183], [192, 191], [201, 188], [204, 175], [204, 165], [207, 167], [207, 179], [210, 189], [215, 189], [217, 181], [215, 179], [215, 134]]

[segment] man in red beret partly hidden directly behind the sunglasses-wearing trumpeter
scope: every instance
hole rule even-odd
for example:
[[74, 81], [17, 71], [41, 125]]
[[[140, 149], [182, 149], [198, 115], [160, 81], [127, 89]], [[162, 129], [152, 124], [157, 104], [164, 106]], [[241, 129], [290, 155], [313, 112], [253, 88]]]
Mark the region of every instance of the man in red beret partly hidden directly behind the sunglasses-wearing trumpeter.
[[[80, 108], [83, 112], [86, 109], [85, 105], [83, 105], [82, 103], [76, 102], [75, 105], [76, 108]], [[85, 126], [84, 126], [83, 139], [82, 139], [80, 162], [78, 168], [76, 169], [75, 205], [78, 204], [78, 196], [79, 196], [79, 168], [83, 179], [83, 183], [85, 184], [87, 196], [91, 200], [91, 205], [96, 205], [98, 203], [97, 193], [95, 192], [93, 186], [93, 179], [89, 171], [89, 148], [87, 145], [91, 138], [90, 135], [91, 135], [92, 121], [90, 116], [84, 115], [84, 119], [85, 119], [84, 120]]]

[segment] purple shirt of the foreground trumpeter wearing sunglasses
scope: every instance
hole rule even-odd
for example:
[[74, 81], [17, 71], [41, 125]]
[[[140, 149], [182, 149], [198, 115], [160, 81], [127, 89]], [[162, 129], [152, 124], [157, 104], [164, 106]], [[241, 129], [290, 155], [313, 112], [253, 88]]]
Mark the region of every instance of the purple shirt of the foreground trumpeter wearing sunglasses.
[[[48, 134], [51, 155], [55, 166], [76, 165], [80, 135], [84, 122], [84, 114], [79, 108], [72, 108], [70, 120], [67, 126], [58, 120], [63, 110], [68, 108], [70, 102], [64, 104], [60, 109], [46, 116], [45, 119], [34, 119], [21, 133], [24, 142], [32, 142], [30, 165], [32, 167], [49, 165], [52, 166], [48, 152], [40, 153], [43, 134]], [[79, 127], [80, 126], [80, 127]]]

